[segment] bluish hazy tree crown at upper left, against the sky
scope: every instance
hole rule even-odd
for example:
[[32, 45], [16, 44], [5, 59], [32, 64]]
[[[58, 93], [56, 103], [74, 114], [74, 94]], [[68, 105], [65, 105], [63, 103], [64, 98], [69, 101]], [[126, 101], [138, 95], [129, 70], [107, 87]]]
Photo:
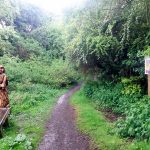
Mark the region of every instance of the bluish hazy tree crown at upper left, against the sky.
[[14, 20], [16, 30], [19, 32], [29, 33], [33, 29], [40, 27], [44, 21], [51, 20], [51, 17], [34, 5], [20, 3], [19, 8], [20, 13]]

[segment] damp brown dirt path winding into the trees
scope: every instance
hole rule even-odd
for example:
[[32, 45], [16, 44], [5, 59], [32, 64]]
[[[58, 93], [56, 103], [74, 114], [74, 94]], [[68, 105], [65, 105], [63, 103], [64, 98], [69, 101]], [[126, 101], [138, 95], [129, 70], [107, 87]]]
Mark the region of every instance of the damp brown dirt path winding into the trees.
[[76, 129], [75, 111], [69, 105], [69, 97], [79, 88], [59, 98], [38, 150], [89, 150], [89, 139]]

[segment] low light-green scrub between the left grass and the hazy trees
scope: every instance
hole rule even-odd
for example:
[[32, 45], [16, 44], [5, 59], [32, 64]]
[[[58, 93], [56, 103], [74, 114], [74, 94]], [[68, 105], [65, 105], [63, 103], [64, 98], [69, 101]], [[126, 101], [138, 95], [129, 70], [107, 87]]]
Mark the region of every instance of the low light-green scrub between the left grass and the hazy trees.
[[53, 60], [48, 64], [41, 58], [32, 58], [28, 61], [21, 61], [19, 58], [3, 56], [0, 64], [6, 68], [10, 81], [10, 88], [16, 89], [16, 83], [41, 83], [51, 87], [66, 87], [79, 79], [79, 74], [68, 61], [62, 59]]

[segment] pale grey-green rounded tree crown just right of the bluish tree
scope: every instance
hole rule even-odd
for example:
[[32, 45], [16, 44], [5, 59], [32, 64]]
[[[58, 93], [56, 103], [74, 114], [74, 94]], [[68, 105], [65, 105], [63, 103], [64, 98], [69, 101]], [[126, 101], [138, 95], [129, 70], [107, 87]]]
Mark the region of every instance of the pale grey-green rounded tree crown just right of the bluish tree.
[[32, 37], [45, 48], [51, 58], [63, 55], [64, 42], [62, 32], [52, 24], [46, 24], [32, 32]]

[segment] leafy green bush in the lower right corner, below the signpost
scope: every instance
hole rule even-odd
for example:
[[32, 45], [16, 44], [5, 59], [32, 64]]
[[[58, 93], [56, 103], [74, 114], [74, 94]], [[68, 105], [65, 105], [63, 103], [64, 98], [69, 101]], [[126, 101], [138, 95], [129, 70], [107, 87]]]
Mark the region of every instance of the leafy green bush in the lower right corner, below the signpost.
[[117, 132], [123, 137], [150, 140], [150, 98], [132, 104], [125, 120], [116, 123]]

